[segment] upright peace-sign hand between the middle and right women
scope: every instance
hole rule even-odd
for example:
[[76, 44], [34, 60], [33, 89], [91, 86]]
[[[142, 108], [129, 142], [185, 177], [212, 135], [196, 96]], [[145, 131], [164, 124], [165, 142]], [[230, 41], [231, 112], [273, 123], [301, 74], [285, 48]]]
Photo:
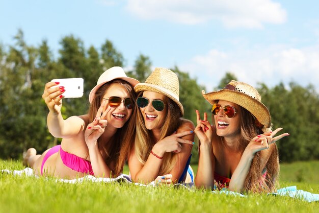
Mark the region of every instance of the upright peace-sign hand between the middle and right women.
[[207, 113], [204, 112], [204, 120], [200, 120], [200, 114], [199, 111], [196, 110], [196, 121], [197, 121], [197, 126], [195, 128], [195, 133], [200, 140], [200, 143], [211, 143], [211, 136], [212, 136], [212, 128], [207, 121]]

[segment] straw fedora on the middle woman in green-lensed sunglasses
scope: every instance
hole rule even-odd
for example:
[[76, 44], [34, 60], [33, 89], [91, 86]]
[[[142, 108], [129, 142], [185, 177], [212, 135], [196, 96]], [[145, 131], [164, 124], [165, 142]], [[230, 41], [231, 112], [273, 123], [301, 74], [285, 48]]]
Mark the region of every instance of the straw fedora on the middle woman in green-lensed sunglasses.
[[152, 91], [164, 94], [179, 106], [180, 114], [183, 116], [184, 108], [179, 102], [178, 77], [172, 70], [156, 67], [145, 83], [137, 84], [134, 89], [136, 92]]

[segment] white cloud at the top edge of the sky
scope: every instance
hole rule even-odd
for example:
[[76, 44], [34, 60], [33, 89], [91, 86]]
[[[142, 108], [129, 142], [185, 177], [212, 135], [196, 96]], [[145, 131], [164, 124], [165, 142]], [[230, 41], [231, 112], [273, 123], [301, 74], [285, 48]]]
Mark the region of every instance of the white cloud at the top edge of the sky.
[[286, 21], [286, 11], [271, 0], [128, 0], [126, 9], [142, 19], [187, 25], [216, 19], [229, 28], [262, 28]]

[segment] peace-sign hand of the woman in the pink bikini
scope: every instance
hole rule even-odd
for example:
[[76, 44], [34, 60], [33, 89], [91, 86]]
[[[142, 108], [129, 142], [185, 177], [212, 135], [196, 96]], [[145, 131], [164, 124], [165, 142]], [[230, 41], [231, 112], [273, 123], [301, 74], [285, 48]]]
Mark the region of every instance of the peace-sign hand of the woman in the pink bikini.
[[97, 145], [97, 139], [104, 133], [105, 127], [108, 125], [108, 121], [105, 120], [107, 113], [111, 110], [105, 110], [103, 113], [103, 108], [105, 101], [102, 102], [100, 108], [97, 110], [94, 121], [87, 126], [87, 129], [84, 133], [85, 142], [88, 148], [94, 147]]

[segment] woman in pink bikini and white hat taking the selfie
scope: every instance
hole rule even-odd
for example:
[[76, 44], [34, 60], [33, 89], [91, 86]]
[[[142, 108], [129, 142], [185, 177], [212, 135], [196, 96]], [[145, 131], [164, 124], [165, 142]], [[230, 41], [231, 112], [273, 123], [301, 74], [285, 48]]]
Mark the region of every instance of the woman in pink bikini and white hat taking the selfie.
[[121, 67], [106, 70], [91, 90], [88, 114], [71, 116], [64, 120], [61, 114], [65, 89], [45, 85], [42, 95], [49, 113], [47, 126], [61, 145], [36, 155], [34, 148], [24, 157], [24, 164], [36, 175], [73, 179], [85, 175], [117, 176], [123, 170], [127, 154], [120, 152], [123, 144], [134, 139], [136, 79], [126, 77]]

